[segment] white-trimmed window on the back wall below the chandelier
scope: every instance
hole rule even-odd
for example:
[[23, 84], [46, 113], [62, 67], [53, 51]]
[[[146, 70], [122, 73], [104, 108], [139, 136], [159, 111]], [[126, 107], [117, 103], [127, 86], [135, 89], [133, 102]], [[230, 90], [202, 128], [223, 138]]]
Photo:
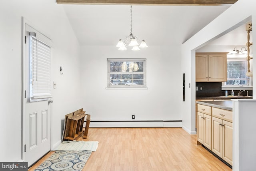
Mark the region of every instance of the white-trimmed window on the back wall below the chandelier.
[[146, 59], [107, 59], [108, 87], [146, 87]]

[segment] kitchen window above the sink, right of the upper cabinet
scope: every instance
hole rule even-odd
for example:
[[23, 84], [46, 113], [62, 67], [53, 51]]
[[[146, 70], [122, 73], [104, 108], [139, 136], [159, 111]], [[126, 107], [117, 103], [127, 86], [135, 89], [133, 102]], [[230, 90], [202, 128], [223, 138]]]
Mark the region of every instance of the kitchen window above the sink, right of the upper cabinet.
[[249, 86], [250, 78], [247, 72], [246, 58], [228, 58], [227, 60], [227, 81], [223, 82], [224, 87]]

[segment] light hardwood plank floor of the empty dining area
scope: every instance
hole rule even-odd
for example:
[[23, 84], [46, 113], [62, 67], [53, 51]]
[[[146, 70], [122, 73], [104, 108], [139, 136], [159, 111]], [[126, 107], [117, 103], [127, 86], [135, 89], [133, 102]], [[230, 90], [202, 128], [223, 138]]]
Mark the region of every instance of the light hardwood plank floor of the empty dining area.
[[232, 171], [182, 128], [89, 128], [79, 140], [99, 141], [83, 171]]

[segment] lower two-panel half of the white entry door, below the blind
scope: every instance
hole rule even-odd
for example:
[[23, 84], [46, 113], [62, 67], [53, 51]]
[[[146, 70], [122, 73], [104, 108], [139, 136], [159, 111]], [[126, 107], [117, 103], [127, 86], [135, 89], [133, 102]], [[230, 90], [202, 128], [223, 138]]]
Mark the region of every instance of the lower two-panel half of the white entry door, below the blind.
[[50, 104], [47, 100], [26, 103], [24, 114], [24, 160], [32, 165], [51, 149]]

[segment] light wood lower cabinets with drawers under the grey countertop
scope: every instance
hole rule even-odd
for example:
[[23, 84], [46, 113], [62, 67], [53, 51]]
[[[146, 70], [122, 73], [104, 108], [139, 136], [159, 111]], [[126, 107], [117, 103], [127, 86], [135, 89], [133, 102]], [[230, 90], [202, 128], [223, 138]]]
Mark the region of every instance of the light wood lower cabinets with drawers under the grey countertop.
[[216, 107], [210, 107], [209, 111], [209, 106], [197, 105], [197, 144], [201, 143], [232, 166], [232, 111]]

